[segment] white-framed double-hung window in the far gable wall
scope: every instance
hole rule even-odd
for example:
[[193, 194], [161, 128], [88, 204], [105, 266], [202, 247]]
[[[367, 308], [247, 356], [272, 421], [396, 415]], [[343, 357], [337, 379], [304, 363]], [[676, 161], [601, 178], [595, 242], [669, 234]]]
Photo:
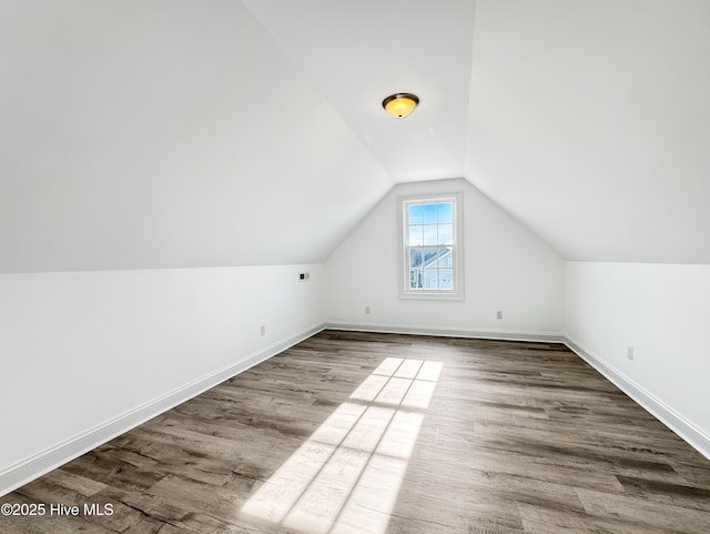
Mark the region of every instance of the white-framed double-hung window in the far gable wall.
[[400, 296], [462, 300], [462, 193], [400, 201]]

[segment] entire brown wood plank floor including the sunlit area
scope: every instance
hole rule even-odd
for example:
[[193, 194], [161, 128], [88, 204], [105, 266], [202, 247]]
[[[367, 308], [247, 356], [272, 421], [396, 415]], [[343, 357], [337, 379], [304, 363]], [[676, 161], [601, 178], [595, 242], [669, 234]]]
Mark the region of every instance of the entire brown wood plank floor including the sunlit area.
[[3, 534], [702, 534], [710, 462], [562, 345], [325, 331], [0, 503], [45, 506]]

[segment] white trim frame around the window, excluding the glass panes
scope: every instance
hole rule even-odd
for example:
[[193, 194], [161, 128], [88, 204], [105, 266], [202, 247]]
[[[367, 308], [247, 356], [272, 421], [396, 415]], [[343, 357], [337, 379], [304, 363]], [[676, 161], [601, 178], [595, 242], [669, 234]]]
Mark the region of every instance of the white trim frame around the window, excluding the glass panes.
[[[454, 201], [454, 289], [447, 290], [410, 290], [409, 289], [409, 260], [407, 253], [407, 219], [405, 204], [447, 202]], [[435, 301], [463, 301], [464, 300], [464, 193], [426, 194], [397, 198], [397, 235], [398, 235], [398, 284], [399, 299], [408, 300], [435, 300]]]

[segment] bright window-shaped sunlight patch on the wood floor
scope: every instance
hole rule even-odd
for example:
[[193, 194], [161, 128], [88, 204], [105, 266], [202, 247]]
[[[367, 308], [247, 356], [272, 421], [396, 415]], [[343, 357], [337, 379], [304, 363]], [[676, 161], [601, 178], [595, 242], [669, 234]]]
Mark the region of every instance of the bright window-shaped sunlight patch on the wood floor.
[[442, 367], [385, 359], [242, 514], [308, 534], [384, 534]]

